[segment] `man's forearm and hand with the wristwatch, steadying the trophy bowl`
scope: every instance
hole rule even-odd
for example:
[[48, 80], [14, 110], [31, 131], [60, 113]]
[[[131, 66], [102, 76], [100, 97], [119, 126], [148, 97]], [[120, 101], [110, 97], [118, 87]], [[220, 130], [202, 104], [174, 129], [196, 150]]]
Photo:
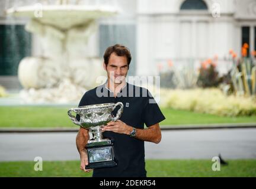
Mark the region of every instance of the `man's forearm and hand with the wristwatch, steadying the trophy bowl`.
[[[116, 122], [110, 122], [103, 128], [103, 131], [113, 131], [117, 133], [123, 133], [126, 135], [130, 135], [133, 127], [127, 125], [121, 120], [117, 120]], [[155, 125], [149, 126], [148, 129], [136, 129], [135, 138], [140, 139], [142, 141], [154, 142], [158, 144], [161, 141], [161, 129], [159, 127], [159, 123]]]

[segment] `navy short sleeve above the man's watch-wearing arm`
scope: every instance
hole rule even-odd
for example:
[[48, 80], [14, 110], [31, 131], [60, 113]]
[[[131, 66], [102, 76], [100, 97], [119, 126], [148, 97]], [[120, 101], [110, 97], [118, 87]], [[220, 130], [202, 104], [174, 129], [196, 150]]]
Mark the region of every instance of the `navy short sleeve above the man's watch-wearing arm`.
[[147, 127], [155, 125], [156, 123], [165, 120], [165, 116], [162, 114], [155, 99], [153, 99], [151, 93], [148, 91], [148, 96], [145, 97], [143, 108], [143, 122]]

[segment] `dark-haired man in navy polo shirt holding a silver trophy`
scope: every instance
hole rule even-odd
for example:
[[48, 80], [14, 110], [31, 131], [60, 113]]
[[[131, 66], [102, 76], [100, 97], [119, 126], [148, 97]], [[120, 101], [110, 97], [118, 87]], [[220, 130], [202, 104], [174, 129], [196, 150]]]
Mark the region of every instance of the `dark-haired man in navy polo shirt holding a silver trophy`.
[[[124, 105], [120, 119], [103, 128], [104, 137], [114, 139], [114, 154], [118, 165], [94, 169], [93, 177], [146, 177], [144, 141], [155, 144], [161, 141], [159, 122], [165, 117], [157, 103], [148, 90], [126, 82], [131, 60], [130, 51], [123, 45], [108, 47], [103, 63], [107, 71], [107, 82], [86, 92], [79, 103], [79, 106], [117, 102]], [[147, 129], [144, 129], [144, 123]], [[85, 165], [88, 165], [85, 149], [88, 140], [88, 130], [80, 128], [76, 146], [81, 157], [80, 168], [85, 172], [91, 171], [85, 170]]]

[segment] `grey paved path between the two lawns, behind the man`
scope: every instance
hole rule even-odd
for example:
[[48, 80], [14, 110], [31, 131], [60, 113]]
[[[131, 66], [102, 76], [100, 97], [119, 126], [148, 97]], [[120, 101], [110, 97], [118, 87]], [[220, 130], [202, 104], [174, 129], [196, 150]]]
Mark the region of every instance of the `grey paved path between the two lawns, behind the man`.
[[[0, 133], [0, 161], [78, 160], [75, 132]], [[160, 144], [145, 142], [147, 159], [256, 158], [256, 129], [162, 131]]]

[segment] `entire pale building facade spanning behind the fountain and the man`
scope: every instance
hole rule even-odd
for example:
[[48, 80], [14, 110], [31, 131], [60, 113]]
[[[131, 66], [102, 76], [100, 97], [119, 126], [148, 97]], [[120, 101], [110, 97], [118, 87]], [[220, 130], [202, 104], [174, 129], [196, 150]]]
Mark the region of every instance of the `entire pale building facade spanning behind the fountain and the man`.
[[[24, 30], [26, 19], [4, 15], [7, 2], [0, 2], [0, 84], [17, 88], [18, 62], [42, 52], [37, 38]], [[256, 0], [113, 2], [120, 8], [119, 15], [98, 20], [86, 53], [102, 57], [109, 45], [127, 45], [133, 55], [130, 75], [158, 76], [159, 64], [165, 68], [169, 61], [178, 66], [192, 60], [199, 66], [216, 56], [225, 72], [230, 49], [238, 56], [244, 43], [249, 44], [249, 51], [256, 50]]]

